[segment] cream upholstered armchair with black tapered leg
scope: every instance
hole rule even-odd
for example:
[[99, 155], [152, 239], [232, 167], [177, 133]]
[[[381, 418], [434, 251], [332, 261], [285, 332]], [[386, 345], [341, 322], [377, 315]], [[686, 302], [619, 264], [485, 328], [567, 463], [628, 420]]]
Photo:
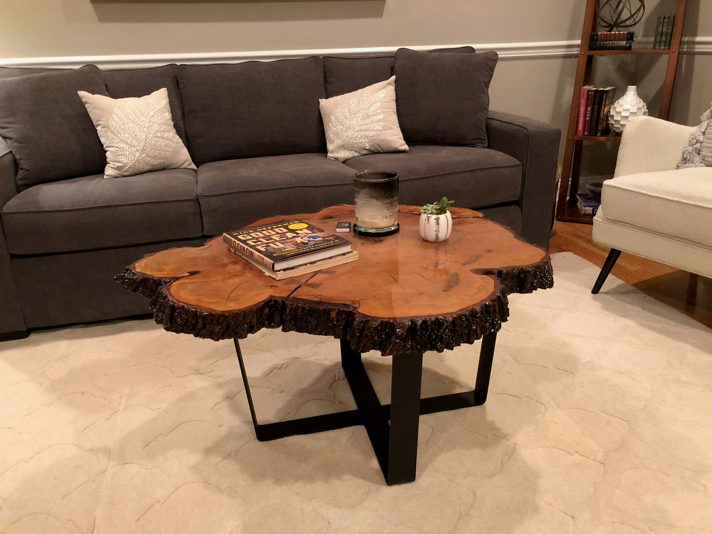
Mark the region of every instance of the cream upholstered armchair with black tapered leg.
[[696, 129], [636, 117], [603, 184], [593, 240], [611, 247], [598, 293], [621, 251], [712, 277], [712, 167], [675, 169]]

